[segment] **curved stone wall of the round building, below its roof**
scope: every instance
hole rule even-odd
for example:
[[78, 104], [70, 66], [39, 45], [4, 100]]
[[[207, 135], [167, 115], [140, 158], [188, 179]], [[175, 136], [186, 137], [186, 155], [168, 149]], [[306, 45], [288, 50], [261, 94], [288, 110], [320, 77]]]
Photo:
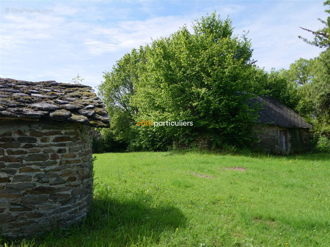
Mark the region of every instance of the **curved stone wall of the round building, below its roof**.
[[85, 217], [92, 201], [90, 127], [0, 121], [0, 230], [43, 233]]

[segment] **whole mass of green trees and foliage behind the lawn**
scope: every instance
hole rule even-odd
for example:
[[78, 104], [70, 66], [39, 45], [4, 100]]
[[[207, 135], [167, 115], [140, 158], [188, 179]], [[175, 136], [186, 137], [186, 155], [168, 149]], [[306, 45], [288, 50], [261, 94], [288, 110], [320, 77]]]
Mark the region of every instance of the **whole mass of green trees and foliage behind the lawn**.
[[[299, 59], [290, 69], [270, 72], [251, 61], [246, 34], [233, 35], [229, 18], [215, 13], [168, 37], [125, 54], [99, 86], [111, 127], [102, 130], [111, 145], [128, 151], [166, 151], [174, 140], [189, 147], [211, 134], [213, 146], [243, 146], [253, 141], [252, 125], [260, 108], [249, 108], [253, 95], [267, 95], [296, 110], [315, 132], [329, 134], [329, 52]], [[325, 76], [324, 76], [325, 75]], [[137, 126], [138, 121], [193, 122], [193, 126]], [[110, 145], [110, 146], [111, 146]], [[110, 148], [110, 146], [108, 148]]]

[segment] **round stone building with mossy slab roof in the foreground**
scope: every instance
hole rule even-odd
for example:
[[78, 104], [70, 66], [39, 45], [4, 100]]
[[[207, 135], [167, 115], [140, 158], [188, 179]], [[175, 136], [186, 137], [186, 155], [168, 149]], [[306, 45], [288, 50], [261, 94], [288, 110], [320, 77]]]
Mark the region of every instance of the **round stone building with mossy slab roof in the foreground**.
[[92, 201], [91, 127], [109, 117], [91, 87], [0, 78], [0, 231], [66, 227]]

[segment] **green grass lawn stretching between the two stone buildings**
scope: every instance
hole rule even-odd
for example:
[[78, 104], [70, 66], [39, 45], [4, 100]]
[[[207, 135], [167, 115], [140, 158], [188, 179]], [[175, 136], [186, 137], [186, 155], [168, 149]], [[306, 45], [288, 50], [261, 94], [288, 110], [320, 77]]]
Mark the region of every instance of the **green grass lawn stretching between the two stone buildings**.
[[89, 216], [13, 246], [330, 246], [329, 154], [96, 157]]

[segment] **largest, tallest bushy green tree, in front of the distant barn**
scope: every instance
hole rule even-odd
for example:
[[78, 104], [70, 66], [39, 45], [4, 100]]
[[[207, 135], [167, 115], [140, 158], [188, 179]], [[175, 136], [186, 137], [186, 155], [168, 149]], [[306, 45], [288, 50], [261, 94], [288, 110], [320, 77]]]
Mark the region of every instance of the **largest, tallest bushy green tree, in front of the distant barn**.
[[215, 13], [192, 27], [193, 33], [183, 26], [146, 47], [145, 72], [133, 99], [136, 120], [184, 120], [193, 126], [144, 126], [140, 133], [166, 141], [216, 133], [228, 143], [245, 144], [257, 111], [247, 105], [254, 63], [250, 41], [233, 35], [231, 20]]

